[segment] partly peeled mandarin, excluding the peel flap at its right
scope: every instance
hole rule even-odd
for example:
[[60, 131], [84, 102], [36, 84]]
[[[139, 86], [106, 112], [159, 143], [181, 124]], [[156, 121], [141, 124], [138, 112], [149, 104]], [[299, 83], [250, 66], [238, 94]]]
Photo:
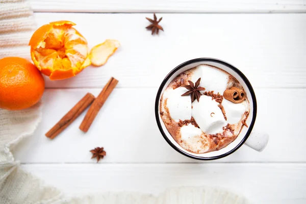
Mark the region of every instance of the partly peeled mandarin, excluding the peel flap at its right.
[[30, 39], [31, 58], [50, 80], [74, 77], [91, 63], [87, 41], [73, 25], [65, 20], [50, 22]]

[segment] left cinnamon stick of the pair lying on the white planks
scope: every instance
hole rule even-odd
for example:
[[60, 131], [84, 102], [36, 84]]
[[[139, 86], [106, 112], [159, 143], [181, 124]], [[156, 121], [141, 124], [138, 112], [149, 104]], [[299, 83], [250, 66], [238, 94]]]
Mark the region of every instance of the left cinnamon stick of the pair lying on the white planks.
[[54, 139], [61, 132], [63, 132], [67, 126], [69, 126], [79, 115], [93, 102], [95, 97], [91, 93], [87, 93], [73, 108], [56, 123], [52, 129], [50, 129], [45, 136]]

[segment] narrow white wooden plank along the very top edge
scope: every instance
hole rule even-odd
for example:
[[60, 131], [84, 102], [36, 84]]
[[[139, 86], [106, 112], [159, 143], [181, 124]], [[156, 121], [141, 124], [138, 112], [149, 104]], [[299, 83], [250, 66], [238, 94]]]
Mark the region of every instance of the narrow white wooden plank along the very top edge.
[[304, 0], [30, 0], [36, 12], [289, 13], [305, 12]]

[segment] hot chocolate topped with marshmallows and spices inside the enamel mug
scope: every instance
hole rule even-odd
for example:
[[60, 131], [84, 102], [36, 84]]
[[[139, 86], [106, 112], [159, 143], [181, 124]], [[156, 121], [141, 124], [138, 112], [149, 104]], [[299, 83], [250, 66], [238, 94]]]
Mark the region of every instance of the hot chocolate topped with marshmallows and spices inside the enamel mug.
[[197, 154], [227, 146], [247, 126], [250, 109], [243, 87], [217, 67], [203, 64], [184, 71], [170, 82], [160, 101], [170, 135]]

